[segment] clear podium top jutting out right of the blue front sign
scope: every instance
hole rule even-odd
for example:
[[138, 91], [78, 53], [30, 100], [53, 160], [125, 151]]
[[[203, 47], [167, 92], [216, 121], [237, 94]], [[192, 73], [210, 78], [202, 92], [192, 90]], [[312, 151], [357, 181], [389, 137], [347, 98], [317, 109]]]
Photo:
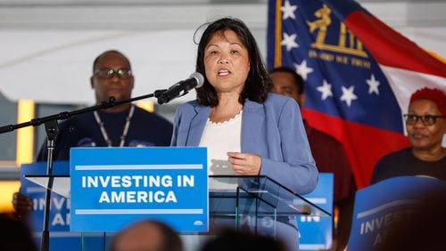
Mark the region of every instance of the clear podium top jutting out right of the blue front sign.
[[212, 179], [237, 183], [233, 190], [209, 192], [211, 217], [233, 218], [235, 228], [249, 216], [268, 216], [274, 220], [296, 215], [330, 216], [322, 208], [264, 175], [211, 175]]

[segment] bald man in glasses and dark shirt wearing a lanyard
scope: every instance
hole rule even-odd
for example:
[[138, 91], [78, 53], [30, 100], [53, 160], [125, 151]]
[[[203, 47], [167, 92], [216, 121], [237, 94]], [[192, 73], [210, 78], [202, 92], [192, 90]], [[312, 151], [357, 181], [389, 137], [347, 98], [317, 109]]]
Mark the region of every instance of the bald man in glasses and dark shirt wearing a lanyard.
[[[130, 62], [122, 53], [106, 51], [95, 59], [90, 84], [96, 103], [111, 96], [116, 101], [129, 99], [134, 81]], [[70, 117], [59, 128], [54, 160], [70, 159], [72, 147], [169, 146], [173, 130], [167, 119], [130, 103]], [[45, 142], [37, 161], [46, 158]], [[19, 192], [14, 194], [12, 204], [18, 215], [28, 215], [32, 206], [31, 200]]]

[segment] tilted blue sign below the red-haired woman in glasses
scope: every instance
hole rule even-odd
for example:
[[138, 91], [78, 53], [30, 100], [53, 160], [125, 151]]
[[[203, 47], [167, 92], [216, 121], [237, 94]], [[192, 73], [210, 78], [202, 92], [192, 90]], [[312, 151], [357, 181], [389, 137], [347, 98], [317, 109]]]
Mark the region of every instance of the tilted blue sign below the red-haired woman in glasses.
[[446, 193], [446, 182], [416, 176], [395, 177], [358, 190], [349, 250], [379, 250], [392, 223], [397, 220], [410, 221], [414, 205], [427, 194], [439, 190]]

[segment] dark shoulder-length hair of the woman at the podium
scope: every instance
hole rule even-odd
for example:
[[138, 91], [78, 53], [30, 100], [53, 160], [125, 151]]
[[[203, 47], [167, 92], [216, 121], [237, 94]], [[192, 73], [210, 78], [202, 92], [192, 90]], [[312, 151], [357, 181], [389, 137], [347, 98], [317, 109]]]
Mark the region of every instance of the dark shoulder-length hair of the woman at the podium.
[[211, 41], [212, 36], [217, 33], [223, 34], [226, 30], [235, 32], [236, 36], [248, 51], [250, 60], [250, 71], [245, 81], [244, 90], [240, 94], [239, 102], [244, 104], [244, 100], [248, 98], [251, 101], [263, 103], [267, 99], [269, 90], [272, 87], [268, 71], [265, 69], [260, 56], [259, 47], [249, 28], [242, 20], [232, 18], [223, 18], [209, 23], [202, 34], [202, 38], [198, 44], [195, 69], [204, 76], [204, 84], [202, 87], [196, 89], [197, 101], [202, 105], [209, 105], [211, 107], [215, 107], [219, 104], [217, 92], [206, 78], [204, 69], [204, 49]]

